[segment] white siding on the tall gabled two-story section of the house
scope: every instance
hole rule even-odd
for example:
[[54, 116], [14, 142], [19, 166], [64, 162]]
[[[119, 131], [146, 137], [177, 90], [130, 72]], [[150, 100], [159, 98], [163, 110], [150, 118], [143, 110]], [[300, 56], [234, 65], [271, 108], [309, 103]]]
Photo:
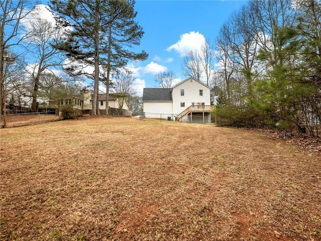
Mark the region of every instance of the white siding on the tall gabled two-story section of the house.
[[[181, 96], [181, 89], [184, 89], [184, 96]], [[203, 96], [200, 96], [200, 89], [203, 89]], [[205, 103], [205, 105], [211, 105], [210, 88], [206, 85], [191, 78], [183, 81], [181, 84], [176, 85], [172, 91], [173, 97], [173, 113], [179, 114], [190, 105], [195, 102], [195, 105]], [[184, 107], [181, 107], [181, 102], [185, 103]]]

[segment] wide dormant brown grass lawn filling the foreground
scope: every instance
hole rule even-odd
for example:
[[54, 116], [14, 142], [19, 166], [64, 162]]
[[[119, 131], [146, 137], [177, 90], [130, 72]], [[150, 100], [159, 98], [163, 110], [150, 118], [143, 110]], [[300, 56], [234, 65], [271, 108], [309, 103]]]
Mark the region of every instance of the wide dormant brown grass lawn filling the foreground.
[[2, 240], [321, 240], [321, 160], [134, 118], [2, 129]]

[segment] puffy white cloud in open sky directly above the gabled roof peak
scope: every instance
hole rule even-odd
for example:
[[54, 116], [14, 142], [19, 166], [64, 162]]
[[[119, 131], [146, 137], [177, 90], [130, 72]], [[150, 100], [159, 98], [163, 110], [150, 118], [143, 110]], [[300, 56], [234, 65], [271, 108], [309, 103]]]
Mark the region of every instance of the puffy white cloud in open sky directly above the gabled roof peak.
[[176, 43], [167, 48], [167, 51], [175, 50], [182, 57], [187, 55], [188, 52], [200, 50], [201, 45], [204, 43], [205, 37], [199, 32], [185, 33], [181, 36], [181, 39]]

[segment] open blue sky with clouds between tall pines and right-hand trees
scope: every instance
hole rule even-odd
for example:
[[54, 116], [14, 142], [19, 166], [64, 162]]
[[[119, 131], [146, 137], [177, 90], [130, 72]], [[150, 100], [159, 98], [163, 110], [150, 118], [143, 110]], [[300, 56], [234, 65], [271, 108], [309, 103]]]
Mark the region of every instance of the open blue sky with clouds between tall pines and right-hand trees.
[[[215, 41], [220, 27], [231, 13], [246, 1], [144, 1], [137, 0], [136, 21], [144, 36], [137, 51], [145, 50], [148, 59], [130, 65], [135, 71], [138, 92], [144, 87], [157, 87], [157, 71], [173, 70], [177, 80], [184, 80], [181, 66], [184, 54], [196, 50], [202, 40]], [[172, 47], [171, 47], [172, 46]]]

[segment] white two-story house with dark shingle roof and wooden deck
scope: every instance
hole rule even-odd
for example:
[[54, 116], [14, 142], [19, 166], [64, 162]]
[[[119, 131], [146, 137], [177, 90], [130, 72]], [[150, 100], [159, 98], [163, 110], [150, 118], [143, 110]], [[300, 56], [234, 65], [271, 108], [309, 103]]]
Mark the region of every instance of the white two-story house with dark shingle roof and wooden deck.
[[210, 87], [190, 77], [172, 88], [144, 88], [145, 117], [211, 123]]

